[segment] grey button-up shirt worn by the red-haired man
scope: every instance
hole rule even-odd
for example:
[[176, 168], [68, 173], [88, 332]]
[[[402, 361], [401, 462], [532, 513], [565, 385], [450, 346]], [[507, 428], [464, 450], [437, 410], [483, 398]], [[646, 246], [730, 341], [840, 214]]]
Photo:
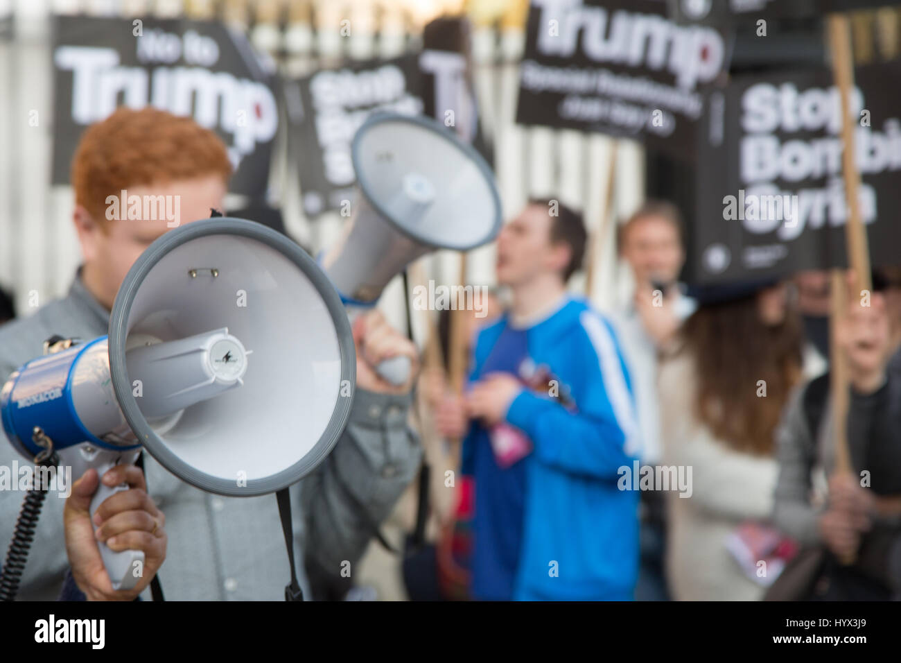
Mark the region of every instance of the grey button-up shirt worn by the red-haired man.
[[[104, 336], [109, 311], [76, 276], [64, 299], [0, 327], [0, 386], [41, 355], [54, 334], [88, 341]], [[291, 487], [295, 555], [305, 596], [303, 550], [336, 574], [350, 575], [374, 528], [387, 518], [416, 474], [419, 440], [407, 425], [410, 396], [358, 390], [344, 434], [313, 474]], [[22, 458], [0, 428], [0, 465]], [[169, 474], [145, 454], [148, 492], [166, 514], [168, 551], [159, 571], [167, 600], [283, 600], [290, 570], [274, 495], [221, 497]], [[73, 477], [77, 479], [77, 477]], [[0, 491], [0, 549], [12, 538], [24, 493]], [[19, 598], [54, 600], [68, 566], [64, 500], [50, 493], [32, 543]], [[2, 559], [0, 559], [2, 564]], [[150, 598], [149, 592], [143, 597]]]

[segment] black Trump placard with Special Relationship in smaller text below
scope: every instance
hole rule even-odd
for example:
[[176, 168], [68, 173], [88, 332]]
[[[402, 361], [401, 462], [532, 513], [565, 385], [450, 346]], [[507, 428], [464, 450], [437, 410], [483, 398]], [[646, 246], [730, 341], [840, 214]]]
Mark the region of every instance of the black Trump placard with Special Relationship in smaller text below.
[[690, 159], [729, 39], [663, 0], [532, 0], [516, 122], [642, 139]]

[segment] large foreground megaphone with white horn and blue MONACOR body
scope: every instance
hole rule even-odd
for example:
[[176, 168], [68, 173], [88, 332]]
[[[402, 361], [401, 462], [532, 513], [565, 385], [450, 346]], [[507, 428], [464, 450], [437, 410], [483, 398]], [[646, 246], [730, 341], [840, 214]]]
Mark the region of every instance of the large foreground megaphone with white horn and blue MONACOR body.
[[[150, 244], [116, 295], [109, 336], [13, 373], [0, 419], [24, 456], [55, 453], [73, 476], [133, 463], [142, 446], [187, 483], [251, 496], [323, 461], [355, 382], [347, 314], [314, 260], [274, 230], [218, 217]], [[101, 483], [91, 515], [127, 489]], [[136, 585], [143, 553], [99, 545], [114, 589]], [[21, 575], [27, 547], [14, 552], [0, 577], [12, 594], [8, 572]]]

